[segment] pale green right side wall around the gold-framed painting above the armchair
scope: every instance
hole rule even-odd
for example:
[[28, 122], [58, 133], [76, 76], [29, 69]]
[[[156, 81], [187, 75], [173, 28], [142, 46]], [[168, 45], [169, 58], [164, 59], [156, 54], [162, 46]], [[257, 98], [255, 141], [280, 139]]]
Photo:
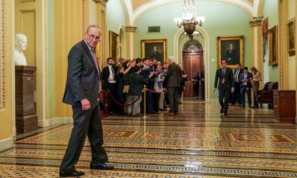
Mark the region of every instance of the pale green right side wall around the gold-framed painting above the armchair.
[[[265, 0], [263, 7], [264, 18], [268, 16], [268, 28], [273, 28], [274, 25], [278, 25], [278, 0]], [[268, 41], [268, 40], [267, 40]], [[269, 48], [268, 43], [266, 45], [265, 61], [269, 61]], [[265, 62], [264, 65], [268, 63]], [[264, 70], [265, 72], [265, 70]], [[264, 73], [265, 75], [265, 73]], [[269, 81], [278, 82], [278, 66], [269, 66]]]

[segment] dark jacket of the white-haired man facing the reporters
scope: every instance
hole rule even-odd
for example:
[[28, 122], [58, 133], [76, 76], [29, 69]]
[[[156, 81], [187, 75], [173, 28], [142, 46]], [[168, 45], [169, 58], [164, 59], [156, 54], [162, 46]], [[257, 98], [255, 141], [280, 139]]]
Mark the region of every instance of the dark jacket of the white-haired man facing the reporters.
[[182, 69], [175, 62], [170, 64], [165, 78], [165, 83], [167, 83], [167, 88], [180, 87], [179, 79], [181, 77], [182, 77]]

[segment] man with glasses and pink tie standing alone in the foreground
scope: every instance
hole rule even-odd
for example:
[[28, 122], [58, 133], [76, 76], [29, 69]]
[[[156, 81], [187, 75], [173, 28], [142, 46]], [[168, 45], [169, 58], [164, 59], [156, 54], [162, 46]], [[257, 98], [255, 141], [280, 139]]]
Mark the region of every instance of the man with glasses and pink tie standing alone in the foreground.
[[80, 158], [86, 135], [91, 145], [91, 169], [113, 169], [103, 145], [98, 101], [101, 90], [101, 73], [93, 48], [101, 40], [101, 29], [90, 25], [84, 40], [74, 45], [68, 54], [67, 81], [63, 103], [72, 105], [73, 129], [60, 166], [60, 177], [76, 177], [84, 172], [76, 171], [74, 165]]

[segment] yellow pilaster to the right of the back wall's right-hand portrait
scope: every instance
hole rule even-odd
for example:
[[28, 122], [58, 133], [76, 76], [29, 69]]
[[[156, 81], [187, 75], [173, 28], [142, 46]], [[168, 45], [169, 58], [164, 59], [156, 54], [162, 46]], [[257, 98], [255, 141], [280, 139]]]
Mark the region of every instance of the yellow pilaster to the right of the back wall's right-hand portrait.
[[[252, 66], [263, 74], [263, 40], [262, 40], [262, 19], [253, 19], [251, 24], [251, 36], [252, 36]], [[264, 81], [260, 82], [260, 88], [264, 86]]]

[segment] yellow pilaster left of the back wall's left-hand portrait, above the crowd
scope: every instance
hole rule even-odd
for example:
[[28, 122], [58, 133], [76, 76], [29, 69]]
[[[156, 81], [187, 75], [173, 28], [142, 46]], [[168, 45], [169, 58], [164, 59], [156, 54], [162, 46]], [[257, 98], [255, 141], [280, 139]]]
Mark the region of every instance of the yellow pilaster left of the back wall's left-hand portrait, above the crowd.
[[[136, 26], [126, 26], [126, 58], [135, 58], [135, 44], [136, 44]], [[140, 44], [139, 44], [140, 45]]]

